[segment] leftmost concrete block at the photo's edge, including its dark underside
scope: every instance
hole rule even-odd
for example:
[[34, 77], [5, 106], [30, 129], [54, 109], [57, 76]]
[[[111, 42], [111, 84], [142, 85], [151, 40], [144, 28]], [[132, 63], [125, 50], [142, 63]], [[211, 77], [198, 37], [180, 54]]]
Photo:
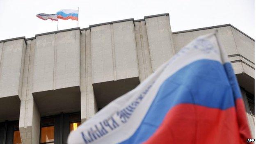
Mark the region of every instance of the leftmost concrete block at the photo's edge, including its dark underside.
[[20, 112], [26, 43], [0, 43], [0, 121], [17, 120]]

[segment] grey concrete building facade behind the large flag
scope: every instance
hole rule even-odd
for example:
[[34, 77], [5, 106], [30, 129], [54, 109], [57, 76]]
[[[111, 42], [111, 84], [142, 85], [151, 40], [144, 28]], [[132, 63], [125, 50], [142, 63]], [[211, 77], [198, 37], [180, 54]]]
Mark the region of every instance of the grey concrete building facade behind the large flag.
[[169, 14], [158, 14], [0, 41], [0, 144], [66, 144], [74, 126], [215, 30], [254, 135], [254, 39], [230, 24], [171, 32]]

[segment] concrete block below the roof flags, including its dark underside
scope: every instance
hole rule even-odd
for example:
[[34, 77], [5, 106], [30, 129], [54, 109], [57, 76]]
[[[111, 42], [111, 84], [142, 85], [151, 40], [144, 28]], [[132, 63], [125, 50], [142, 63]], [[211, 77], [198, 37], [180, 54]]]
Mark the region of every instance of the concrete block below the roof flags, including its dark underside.
[[41, 116], [80, 111], [80, 36], [80, 28], [36, 35], [32, 94]]

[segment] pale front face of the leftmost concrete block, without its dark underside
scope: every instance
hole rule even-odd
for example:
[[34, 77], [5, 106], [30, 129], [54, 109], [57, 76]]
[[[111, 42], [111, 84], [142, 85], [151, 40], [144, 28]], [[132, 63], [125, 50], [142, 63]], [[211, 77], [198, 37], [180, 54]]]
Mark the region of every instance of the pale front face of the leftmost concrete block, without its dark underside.
[[17, 39], [0, 44], [0, 97], [21, 97], [25, 41]]

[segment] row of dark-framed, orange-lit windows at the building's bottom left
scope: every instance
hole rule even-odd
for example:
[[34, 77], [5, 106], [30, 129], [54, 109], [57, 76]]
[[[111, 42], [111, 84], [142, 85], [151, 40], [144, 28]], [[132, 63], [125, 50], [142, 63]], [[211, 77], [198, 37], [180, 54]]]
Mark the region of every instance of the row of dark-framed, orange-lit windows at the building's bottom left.
[[[69, 133], [80, 124], [80, 113], [42, 117], [40, 144], [66, 144]], [[22, 144], [18, 121], [0, 123], [0, 144]]]

